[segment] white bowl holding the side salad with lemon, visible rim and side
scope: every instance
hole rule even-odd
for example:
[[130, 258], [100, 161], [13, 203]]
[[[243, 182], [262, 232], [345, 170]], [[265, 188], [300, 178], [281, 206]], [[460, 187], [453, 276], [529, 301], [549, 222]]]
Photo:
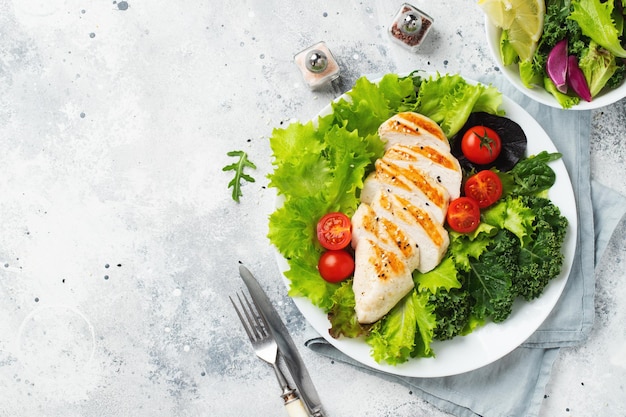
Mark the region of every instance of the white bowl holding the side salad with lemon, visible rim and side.
[[[509, 65], [504, 66], [502, 64], [502, 57], [500, 56], [500, 34], [502, 30], [496, 26], [494, 26], [489, 19], [485, 19], [485, 29], [487, 33], [487, 43], [489, 44], [489, 49], [491, 49], [491, 54], [493, 55], [493, 59], [498, 64], [498, 67], [504, 74], [504, 76], [526, 96], [536, 100], [546, 106], [562, 108], [559, 102], [554, 98], [554, 96], [548, 93], [542, 87], [528, 88], [520, 79], [519, 71], [517, 69], [517, 65]], [[615, 103], [616, 101], [621, 100], [626, 97], [626, 82], [622, 82], [622, 84], [614, 89], [605, 89], [601, 91], [597, 96], [593, 98], [590, 102], [587, 102], [583, 99], [580, 102], [572, 106], [566, 110], [591, 110], [597, 109], [600, 107], [607, 106], [609, 104]]]

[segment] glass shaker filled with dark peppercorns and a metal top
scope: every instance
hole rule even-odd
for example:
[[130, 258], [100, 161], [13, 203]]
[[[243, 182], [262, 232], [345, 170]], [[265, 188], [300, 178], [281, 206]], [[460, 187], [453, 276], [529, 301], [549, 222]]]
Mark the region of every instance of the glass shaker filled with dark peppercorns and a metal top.
[[433, 22], [433, 18], [426, 13], [404, 3], [389, 26], [389, 35], [398, 44], [415, 52], [428, 34]]

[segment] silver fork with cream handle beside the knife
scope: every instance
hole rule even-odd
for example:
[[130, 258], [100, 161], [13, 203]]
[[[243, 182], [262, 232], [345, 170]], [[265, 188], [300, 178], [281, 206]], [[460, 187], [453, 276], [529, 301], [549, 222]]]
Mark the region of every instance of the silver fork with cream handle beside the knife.
[[237, 304], [235, 304], [232, 297], [228, 298], [230, 298], [230, 302], [233, 304], [233, 307], [239, 316], [239, 320], [241, 320], [241, 324], [248, 334], [248, 338], [254, 348], [254, 353], [274, 368], [278, 384], [283, 390], [280, 396], [285, 401], [287, 414], [289, 417], [308, 417], [309, 414], [304, 408], [304, 403], [300, 400], [298, 393], [289, 387], [285, 376], [277, 365], [278, 345], [270, 333], [269, 325], [265, 321], [263, 315], [258, 312], [256, 305], [254, 305], [254, 301], [250, 302], [245, 294], [242, 293], [242, 295], [243, 300], [239, 294], [237, 294], [241, 310], [237, 307]]

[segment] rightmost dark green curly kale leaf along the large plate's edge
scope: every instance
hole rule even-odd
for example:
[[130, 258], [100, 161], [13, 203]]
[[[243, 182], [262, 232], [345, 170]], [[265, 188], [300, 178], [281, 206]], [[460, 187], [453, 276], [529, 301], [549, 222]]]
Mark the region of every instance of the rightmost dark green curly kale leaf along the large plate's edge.
[[533, 208], [533, 234], [519, 252], [518, 272], [513, 278], [513, 291], [526, 300], [539, 297], [551, 279], [559, 275], [563, 264], [561, 248], [567, 232], [567, 219], [550, 200], [524, 197]]

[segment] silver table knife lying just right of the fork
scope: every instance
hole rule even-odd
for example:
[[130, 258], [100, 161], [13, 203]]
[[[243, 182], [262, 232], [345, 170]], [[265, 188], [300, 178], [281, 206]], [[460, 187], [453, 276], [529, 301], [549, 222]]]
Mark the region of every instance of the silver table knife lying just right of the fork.
[[265, 320], [269, 323], [272, 334], [278, 344], [278, 349], [285, 358], [285, 364], [293, 377], [298, 391], [300, 391], [300, 397], [304, 400], [307, 408], [312, 417], [324, 417], [322, 411], [322, 403], [317, 395], [313, 381], [309, 376], [306, 366], [298, 353], [295, 343], [291, 339], [287, 327], [281, 320], [278, 312], [274, 306], [270, 303], [269, 298], [263, 291], [263, 288], [259, 285], [254, 275], [243, 265], [239, 265], [239, 275], [243, 278], [248, 291], [252, 299], [259, 308], [261, 314]]

